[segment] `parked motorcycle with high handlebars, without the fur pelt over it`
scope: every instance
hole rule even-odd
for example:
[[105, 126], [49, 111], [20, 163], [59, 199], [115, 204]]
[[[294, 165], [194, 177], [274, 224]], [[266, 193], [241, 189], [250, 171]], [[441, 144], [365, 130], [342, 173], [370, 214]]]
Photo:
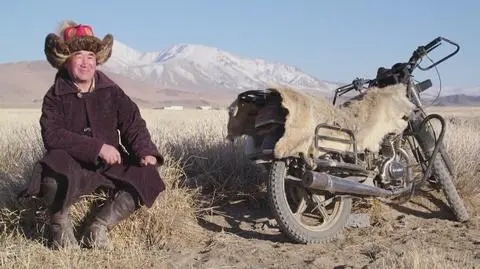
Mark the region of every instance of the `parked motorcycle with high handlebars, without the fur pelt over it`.
[[[430, 66], [420, 66], [422, 59], [443, 42], [453, 45], [455, 50], [439, 61], [432, 61]], [[247, 134], [245, 153], [251, 161], [268, 171], [268, 203], [284, 234], [298, 243], [331, 241], [343, 232], [352, 211], [353, 198], [373, 197], [402, 204], [409, 201], [416, 187], [425, 182], [436, 184], [443, 190], [457, 221], [469, 219], [454, 185], [452, 161], [443, 145], [445, 120], [438, 114], [428, 114], [420, 98], [432, 82], [427, 79], [416, 83], [412, 75], [416, 69], [426, 71], [436, 67], [459, 49], [455, 42], [438, 37], [415, 49], [407, 62], [396, 63], [391, 68], [378, 68], [374, 79], [357, 78], [337, 88], [333, 105], [337, 105], [339, 97], [352, 91], [364, 94], [374, 87], [406, 85], [405, 95], [414, 104], [414, 109], [407, 119], [408, 127], [400, 133], [385, 135], [378, 152], [359, 150], [352, 130], [318, 123], [315, 141], [350, 143], [353, 151], [338, 151], [315, 143], [315, 147], [327, 154], [316, 159], [313, 166], [299, 157], [274, 157], [275, 143], [285, 132], [286, 117], [278, 105], [269, 106], [279, 103], [278, 94], [267, 89], [250, 90], [238, 95], [237, 100], [242, 106], [251, 107], [245, 117], [252, 118], [251, 122], [255, 123], [244, 126]], [[229, 113], [232, 116], [236, 111]], [[441, 123], [438, 136], [431, 123], [433, 119]], [[230, 125], [229, 122], [229, 128]], [[317, 135], [320, 129], [337, 130], [350, 139]], [[417, 171], [417, 176], [414, 176], [414, 162], [421, 170]]]

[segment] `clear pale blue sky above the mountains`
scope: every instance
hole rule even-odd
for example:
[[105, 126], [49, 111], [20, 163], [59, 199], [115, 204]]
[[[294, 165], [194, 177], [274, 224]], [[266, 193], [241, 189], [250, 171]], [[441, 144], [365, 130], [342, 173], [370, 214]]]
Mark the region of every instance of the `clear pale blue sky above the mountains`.
[[[45, 35], [64, 19], [140, 51], [203, 44], [342, 82], [374, 76], [378, 66], [407, 60], [418, 45], [444, 36], [461, 45], [439, 66], [444, 85], [480, 85], [475, 0], [3, 1], [0, 63], [44, 59]], [[418, 77], [425, 75], [435, 83], [435, 73]]]

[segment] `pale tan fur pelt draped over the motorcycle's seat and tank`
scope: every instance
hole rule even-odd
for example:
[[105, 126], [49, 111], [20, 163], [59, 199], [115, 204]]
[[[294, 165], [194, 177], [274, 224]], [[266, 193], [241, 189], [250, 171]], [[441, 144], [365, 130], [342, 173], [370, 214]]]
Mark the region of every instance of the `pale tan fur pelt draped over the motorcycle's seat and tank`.
[[[341, 106], [325, 98], [291, 88], [275, 88], [281, 96], [281, 107], [287, 111], [285, 132], [274, 148], [276, 158], [289, 156], [318, 158], [325, 154], [314, 145], [318, 124], [334, 125], [353, 131], [357, 150], [378, 152], [388, 133], [399, 133], [407, 127], [414, 104], [406, 97], [406, 85], [371, 88]], [[228, 138], [254, 134], [255, 106], [236, 99], [229, 106]], [[317, 135], [349, 139], [344, 132], [320, 129]], [[339, 151], [353, 151], [351, 144], [319, 140], [318, 146]]]

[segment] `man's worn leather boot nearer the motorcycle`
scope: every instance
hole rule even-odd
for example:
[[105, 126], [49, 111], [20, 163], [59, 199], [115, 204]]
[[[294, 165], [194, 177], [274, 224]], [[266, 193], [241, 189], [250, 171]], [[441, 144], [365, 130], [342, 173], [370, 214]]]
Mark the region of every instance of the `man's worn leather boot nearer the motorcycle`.
[[91, 248], [112, 249], [107, 232], [130, 216], [135, 209], [135, 199], [130, 193], [123, 190], [117, 192], [113, 199], [103, 205], [90, 226], [85, 229], [83, 243]]

